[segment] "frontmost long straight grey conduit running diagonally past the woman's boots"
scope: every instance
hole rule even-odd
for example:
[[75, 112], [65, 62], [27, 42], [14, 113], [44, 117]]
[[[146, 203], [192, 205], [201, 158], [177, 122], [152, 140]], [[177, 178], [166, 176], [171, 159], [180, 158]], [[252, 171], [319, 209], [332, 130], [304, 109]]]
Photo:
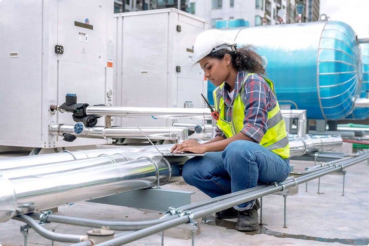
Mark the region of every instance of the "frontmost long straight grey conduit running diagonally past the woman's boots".
[[[309, 177], [302, 176], [302, 177], [296, 178], [294, 180], [291, 180], [287, 184], [284, 184], [284, 188], [290, 188], [290, 187], [296, 186], [300, 183], [305, 183], [307, 181], [310, 181], [310, 180], [316, 179], [318, 177], [324, 176], [328, 173], [332, 173], [332, 172], [344, 169], [346, 167], [349, 167], [353, 164], [356, 164], [356, 163], [361, 162], [362, 160], [365, 160], [365, 159], [368, 159], [368, 158], [369, 158], [369, 154], [366, 153], [365, 156], [355, 157], [354, 159], [352, 159], [352, 162], [344, 164], [343, 166], [335, 167], [334, 169], [331, 169], [331, 170], [318, 171], [318, 172], [314, 173], [314, 175], [311, 175]], [[265, 195], [269, 195], [269, 194], [275, 193], [276, 191], [281, 191], [281, 190], [283, 190], [282, 185], [268, 186], [268, 187], [265, 187], [262, 190], [260, 190], [258, 193], [240, 195], [237, 199], [234, 199], [232, 201], [219, 202], [217, 204], [214, 204], [210, 208], [205, 206], [204, 208], [202, 208], [199, 211], [192, 212], [191, 213], [191, 218], [193, 218], [193, 219], [201, 218], [205, 215], [212, 214], [214, 212], [221, 211], [223, 209], [230, 208], [230, 207], [233, 207], [235, 205], [241, 204], [243, 202], [251, 201], [251, 200], [254, 200], [256, 198], [259, 198], [259, 197], [262, 197], [262, 196], [265, 196]], [[165, 221], [165, 222], [163, 222], [161, 224], [158, 224], [158, 225], [150, 226], [148, 228], [145, 228], [145, 229], [142, 229], [142, 230], [139, 230], [139, 231], [136, 231], [136, 232], [128, 233], [128, 234], [123, 235], [119, 238], [115, 238], [115, 239], [111, 239], [111, 240], [108, 240], [108, 241], [103, 242], [103, 243], [99, 243], [96, 246], [120, 246], [120, 245], [123, 245], [125, 243], [133, 242], [137, 239], [144, 238], [146, 236], [152, 235], [154, 233], [164, 231], [164, 230], [172, 228], [174, 226], [187, 223], [189, 221], [190, 221], [190, 217], [188, 215], [184, 215], [184, 216], [181, 216], [181, 217], [176, 218], [176, 219], [171, 219], [169, 221]]]

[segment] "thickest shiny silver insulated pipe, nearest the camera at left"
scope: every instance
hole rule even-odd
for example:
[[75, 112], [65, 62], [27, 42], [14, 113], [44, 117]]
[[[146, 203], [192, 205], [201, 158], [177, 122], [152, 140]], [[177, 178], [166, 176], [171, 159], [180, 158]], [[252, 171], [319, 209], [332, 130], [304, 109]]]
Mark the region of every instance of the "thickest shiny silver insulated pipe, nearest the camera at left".
[[169, 182], [171, 167], [162, 156], [46, 173], [14, 179], [0, 177], [0, 222], [28, 213], [143, 189]]

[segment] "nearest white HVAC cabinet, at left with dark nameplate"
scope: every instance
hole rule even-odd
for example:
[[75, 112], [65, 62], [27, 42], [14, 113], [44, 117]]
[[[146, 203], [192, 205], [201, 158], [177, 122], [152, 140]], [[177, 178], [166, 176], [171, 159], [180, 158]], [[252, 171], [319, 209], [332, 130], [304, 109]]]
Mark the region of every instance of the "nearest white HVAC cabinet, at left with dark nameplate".
[[[113, 1], [0, 1], [0, 145], [55, 148], [107, 143], [66, 142], [49, 135], [72, 114], [49, 111], [65, 102], [109, 104], [113, 89]], [[99, 125], [104, 125], [103, 119]]]

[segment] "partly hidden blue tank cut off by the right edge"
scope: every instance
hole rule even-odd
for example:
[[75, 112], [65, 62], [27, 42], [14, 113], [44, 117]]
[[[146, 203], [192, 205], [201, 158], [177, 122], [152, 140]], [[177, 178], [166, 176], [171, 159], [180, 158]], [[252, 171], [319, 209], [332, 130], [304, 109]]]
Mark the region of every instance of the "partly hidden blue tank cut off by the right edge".
[[[369, 98], [369, 44], [360, 44], [361, 61], [363, 64], [361, 98]], [[369, 108], [356, 108], [347, 117], [348, 119], [366, 119], [369, 117]]]

